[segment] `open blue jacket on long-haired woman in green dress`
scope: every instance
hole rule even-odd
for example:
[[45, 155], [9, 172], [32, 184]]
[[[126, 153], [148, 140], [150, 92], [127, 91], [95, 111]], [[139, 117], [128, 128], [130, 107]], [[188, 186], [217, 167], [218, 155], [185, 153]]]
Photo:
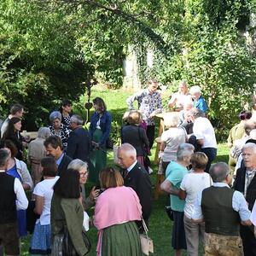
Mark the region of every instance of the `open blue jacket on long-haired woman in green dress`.
[[[91, 140], [93, 138], [94, 131], [96, 131], [96, 124], [99, 119], [100, 119], [100, 114], [97, 112], [93, 113], [90, 118], [89, 135]], [[111, 122], [112, 122], [111, 114], [108, 111], [105, 111], [105, 113], [102, 114], [101, 122], [100, 122], [100, 127], [103, 133], [99, 143], [100, 146], [104, 146], [106, 144], [106, 141], [108, 140], [109, 133], [111, 130]]]

